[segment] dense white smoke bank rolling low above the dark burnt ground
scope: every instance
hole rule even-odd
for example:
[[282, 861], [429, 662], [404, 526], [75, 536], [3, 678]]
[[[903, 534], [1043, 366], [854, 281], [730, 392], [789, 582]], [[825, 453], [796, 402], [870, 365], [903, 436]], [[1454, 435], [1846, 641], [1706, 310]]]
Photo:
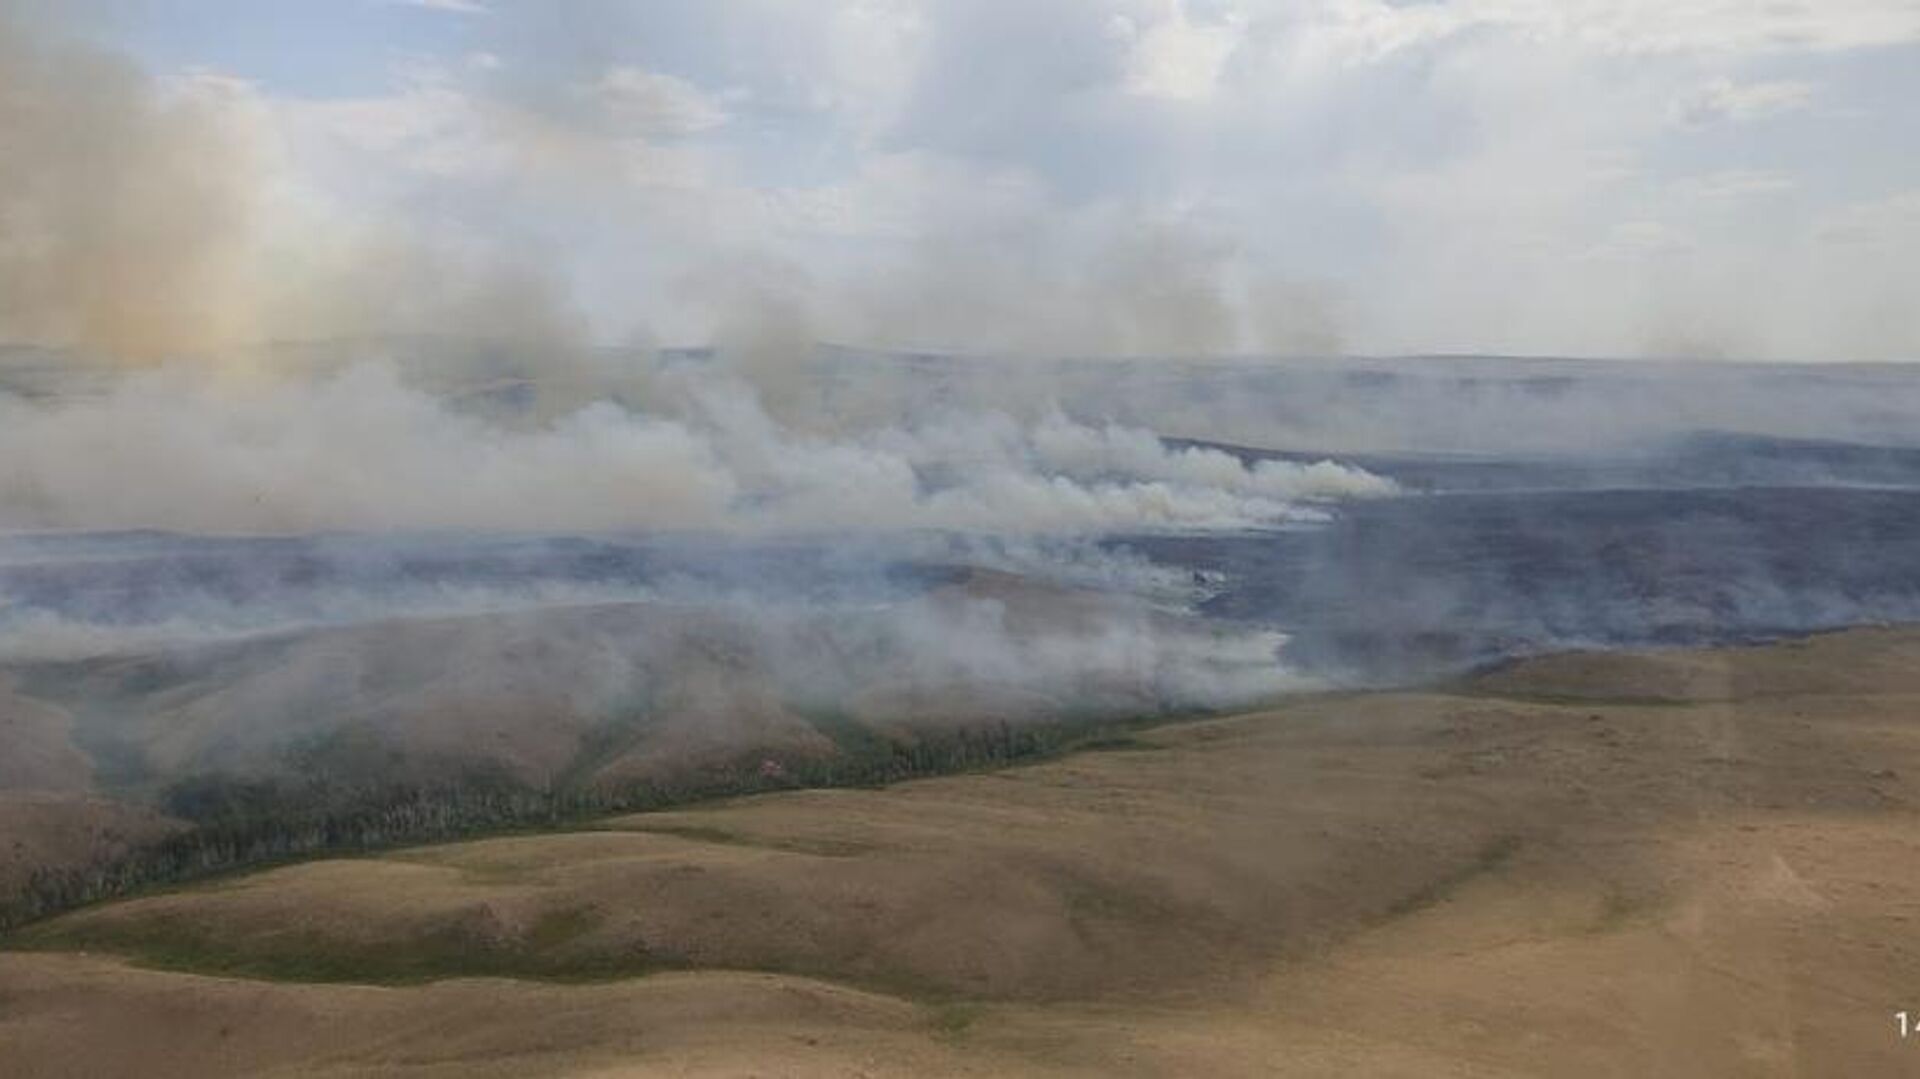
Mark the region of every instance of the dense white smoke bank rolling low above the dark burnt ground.
[[1060, 411], [822, 436], [778, 422], [726, 374], [680, 372], [662, 399], [516, 424], [382, 365], [284, 380], [177, 369], [84, 397], [0, 396], [0, 526], [1092, 534], [1263, 528], [1392, 490], [1334, 463], [1248, 467]]

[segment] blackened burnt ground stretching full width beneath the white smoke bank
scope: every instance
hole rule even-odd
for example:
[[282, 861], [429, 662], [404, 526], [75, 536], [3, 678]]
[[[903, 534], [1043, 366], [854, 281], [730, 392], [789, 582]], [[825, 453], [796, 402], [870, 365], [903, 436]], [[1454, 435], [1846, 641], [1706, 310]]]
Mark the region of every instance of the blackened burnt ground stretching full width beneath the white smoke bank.
[[[1400, 497], [1321, 524], [1116, 536], [1010, 553], [954, 538], [17, 536], [13, 659], [140, 653], [405, 618], [605, 603], [783, 605], [833, 618], [991, 566], [1288, 634], [1283, 662], [1402, 683], [1569, 647], [1747, 641], [1920, 614], [1908, 453], [1716, 440], [1705, 459], [1377, 459]], [[1684, 468], [1688, 465], [1688, 468]], [[1828, 467], [1828, 484], [1784, 482]], [[1688, 482], [1688, 478], [1695, 482]], [[1718, 480], [1755, 482], [1718, 482]]]

